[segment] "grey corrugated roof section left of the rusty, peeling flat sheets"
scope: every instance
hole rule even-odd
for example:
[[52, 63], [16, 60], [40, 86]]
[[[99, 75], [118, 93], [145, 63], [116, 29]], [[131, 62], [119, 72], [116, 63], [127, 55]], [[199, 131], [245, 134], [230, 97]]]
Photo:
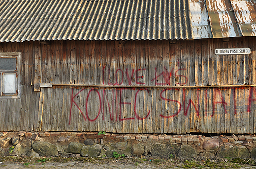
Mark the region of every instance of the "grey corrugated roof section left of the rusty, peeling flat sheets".
[[0, 0], [0, 42], [192, 39], [188, 0]]

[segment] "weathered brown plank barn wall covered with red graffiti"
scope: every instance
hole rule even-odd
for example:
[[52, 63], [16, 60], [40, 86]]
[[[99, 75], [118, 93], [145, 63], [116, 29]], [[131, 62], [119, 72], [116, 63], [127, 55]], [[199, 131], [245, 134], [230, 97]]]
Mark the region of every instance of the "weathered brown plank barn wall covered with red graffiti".
[[[22, 97], [0, 99], [0, 131], [256, 133], [256, 88], [234, 86], [256, 84], [254, 44], [254, 37], [51, 41], [39, 45], [34, 77], [35, 42], [0, 43], [2, 52], [22, 52]], [[215, 55], [215, 48], [252, 52]], [[53, 87], [34, 92], [37, 76]]]

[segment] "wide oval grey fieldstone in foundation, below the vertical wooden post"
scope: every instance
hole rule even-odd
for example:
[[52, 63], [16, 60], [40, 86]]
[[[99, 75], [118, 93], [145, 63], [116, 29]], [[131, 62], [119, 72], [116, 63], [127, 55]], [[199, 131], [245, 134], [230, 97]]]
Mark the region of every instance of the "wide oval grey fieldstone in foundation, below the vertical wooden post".
[[59, 153], [56, 145], [47, 142], [35, 142], [32, 148], [40, 156], [55, 156]]

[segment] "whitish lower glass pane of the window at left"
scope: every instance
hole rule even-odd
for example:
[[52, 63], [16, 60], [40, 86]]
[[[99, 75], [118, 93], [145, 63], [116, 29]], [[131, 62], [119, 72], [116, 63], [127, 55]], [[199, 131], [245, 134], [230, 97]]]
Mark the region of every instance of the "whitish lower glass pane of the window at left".
[[16, 73], [3, 73], [3, 93], [16, 94]]

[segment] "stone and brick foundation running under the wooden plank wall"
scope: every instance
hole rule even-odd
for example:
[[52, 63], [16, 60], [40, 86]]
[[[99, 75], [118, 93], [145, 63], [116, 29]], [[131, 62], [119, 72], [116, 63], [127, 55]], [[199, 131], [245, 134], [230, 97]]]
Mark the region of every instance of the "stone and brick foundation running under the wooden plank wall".
[[113, 157], [113, 154], [126, 157], [256, 159], [256, 136], [0, 132], [0, 156]]

